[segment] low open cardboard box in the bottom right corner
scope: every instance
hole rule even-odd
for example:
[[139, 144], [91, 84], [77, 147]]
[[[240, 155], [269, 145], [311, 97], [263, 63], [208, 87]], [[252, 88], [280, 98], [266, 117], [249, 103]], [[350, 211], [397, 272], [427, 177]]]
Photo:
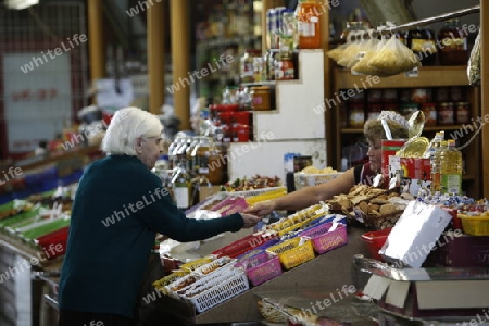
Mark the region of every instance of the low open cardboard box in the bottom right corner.
[[406, 317], [484, 317], [488, 291], [488, 268], [392, 268], [372, 275], [363, 290], [383, 309]]

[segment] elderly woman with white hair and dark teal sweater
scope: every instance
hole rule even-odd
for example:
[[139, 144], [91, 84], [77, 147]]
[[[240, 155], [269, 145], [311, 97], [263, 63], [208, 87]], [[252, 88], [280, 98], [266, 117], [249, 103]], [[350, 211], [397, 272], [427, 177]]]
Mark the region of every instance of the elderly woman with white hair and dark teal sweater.
[[186, 218], [151, 172], [162, 152], [159, 118], [137, 108], [117, 111], [102, 140], [108, 155], [90, 164], [73, 203], [59, 289], [62, 326], [135, 325], [134, 312], [156, 233], [195, 241], [254, 226], [233, 214]]

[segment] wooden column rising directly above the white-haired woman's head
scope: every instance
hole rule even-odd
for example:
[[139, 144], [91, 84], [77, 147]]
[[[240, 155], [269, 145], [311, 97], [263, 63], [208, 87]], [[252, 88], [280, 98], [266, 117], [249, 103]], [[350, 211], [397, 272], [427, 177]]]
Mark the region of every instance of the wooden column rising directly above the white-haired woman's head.
[[161, 114], [165, 102], [164, 3], [153, 2], [147, 9], [149, 112]]

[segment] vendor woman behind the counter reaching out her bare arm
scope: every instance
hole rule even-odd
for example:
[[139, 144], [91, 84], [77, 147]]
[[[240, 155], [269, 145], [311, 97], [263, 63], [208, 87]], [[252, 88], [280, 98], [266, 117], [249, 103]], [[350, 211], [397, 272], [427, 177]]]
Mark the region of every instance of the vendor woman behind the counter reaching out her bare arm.
[[368, 142], [368, 162], [352, 167], [339, 177], [318, 186], [304, 187], [276, 200], [258, 203], [248, 209], [246, 213], [266, 215], [272, 211], [298, 211], [331, 199], [335, 195], [348, 193], [356, 184], [371, 185], [375, 175], [381, 167], [381, 140], [387, 139], [381, 120], [387, 122], [393, 139], [408, 138], [408, 121], [399, 114], [390, 111], [381, 113], [378, 120], [368, 120], [364, 125], [365, 138]]

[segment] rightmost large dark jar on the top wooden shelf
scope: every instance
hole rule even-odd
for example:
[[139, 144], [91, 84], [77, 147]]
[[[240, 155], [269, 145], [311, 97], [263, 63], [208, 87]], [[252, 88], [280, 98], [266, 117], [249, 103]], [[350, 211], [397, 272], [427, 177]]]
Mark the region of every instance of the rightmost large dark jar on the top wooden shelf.
[[459, 20], [448, 20], [438, 34], [440, 63], [442, 65], [465, 65], [468, 61], [467, 35], [460, 28]]

